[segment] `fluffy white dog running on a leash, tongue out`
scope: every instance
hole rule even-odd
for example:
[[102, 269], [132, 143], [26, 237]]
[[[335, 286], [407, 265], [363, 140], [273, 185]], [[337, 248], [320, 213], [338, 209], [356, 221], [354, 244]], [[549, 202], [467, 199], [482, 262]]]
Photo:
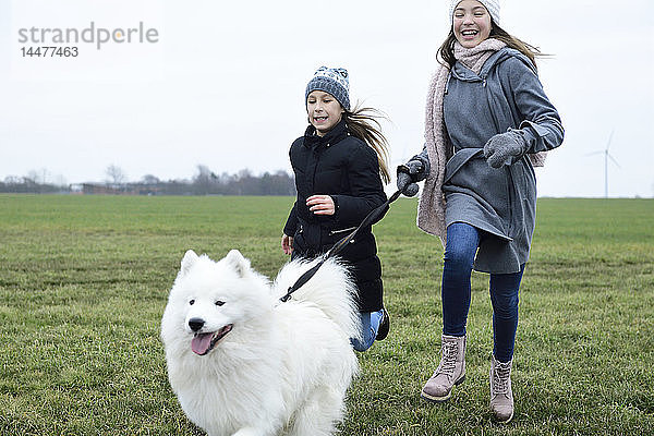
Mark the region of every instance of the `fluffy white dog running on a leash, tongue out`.
[[347, 270], [291, 262], [275, 283], [237, 250], [219, 262], [186, 252], [161, 319], [168, 376], [191, 421], [211, 436], [331, 435], [359, 371], [361, 323]]

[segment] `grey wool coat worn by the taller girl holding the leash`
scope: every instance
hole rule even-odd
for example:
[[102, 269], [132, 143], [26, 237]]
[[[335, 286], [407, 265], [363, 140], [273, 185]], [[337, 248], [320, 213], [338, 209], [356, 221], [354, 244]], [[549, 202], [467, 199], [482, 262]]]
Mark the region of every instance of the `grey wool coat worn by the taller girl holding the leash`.
[[[457, 62], [443, 105], [455, 150], [443, 183], [445, 223], [465, 222], [483, 231], [476, 270], [518, 272], [529, 259], [536, 218], [536, 178], [528, 154], [561, 144], [559, 114], [529, 58], [507, 47], [491, 56], [479, 74]], [[484, 145], [508, 130], [524, 138], [526, 154], [511, 166], [491, 168]], [[420, 157], [428, 159], [426, 149]]]

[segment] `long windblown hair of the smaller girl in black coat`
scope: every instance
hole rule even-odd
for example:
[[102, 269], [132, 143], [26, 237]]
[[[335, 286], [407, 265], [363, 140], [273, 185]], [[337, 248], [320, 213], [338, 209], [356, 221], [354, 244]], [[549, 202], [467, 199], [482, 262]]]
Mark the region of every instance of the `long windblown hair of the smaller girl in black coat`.
[[387, 119], [379, 110], [374, 108], [361, 107], [359, 104], [351, 111], [343, 112], [343, 120], [348, 124], [348, 131], [354, 137], [360, 138], [370, 145], [377, 154], [379, 162], [379, 174], [384, 184], [390, 183], [390, 173], [388, 171], [388, 141], [382, 133], [382, 124], [378, 119]]

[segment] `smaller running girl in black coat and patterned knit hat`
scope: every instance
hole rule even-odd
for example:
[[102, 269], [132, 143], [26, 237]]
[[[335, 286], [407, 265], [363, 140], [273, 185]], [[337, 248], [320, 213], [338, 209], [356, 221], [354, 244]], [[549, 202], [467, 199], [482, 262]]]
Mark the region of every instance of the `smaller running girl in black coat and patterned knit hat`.
[[[306, 85], [304, 102], [310, 125], [290, 149], [298, 198], [281, 239], [292, 258], [313, 258], [331, 249], [386, 202], [382, 180], [389, 181], [386, 138], [371, 124], [379, 125], [371, 109], [350, 110], [347, 70], [319, 68]], [[389, 329], [372, 226], [361, 229], [340, 257], [359, 292], [363, 340], [352, 344], [365, 351]]]

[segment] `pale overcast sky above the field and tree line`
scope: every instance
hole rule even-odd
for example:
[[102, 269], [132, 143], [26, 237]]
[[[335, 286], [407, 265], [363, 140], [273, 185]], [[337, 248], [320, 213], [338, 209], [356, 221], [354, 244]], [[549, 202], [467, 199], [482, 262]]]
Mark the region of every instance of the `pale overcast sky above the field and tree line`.
[[[537, 170], [541, 196], [654, 196], [654, 2], [505, 0], [509, 33], [538, 63], [566, 138]], [[449, 1], [0, 0], [0, 180], [130, 181], [290, 171], [322, 64], [350, 71], [352, 100], [386, 112], [391, 165], [423, 144], [426, 89]], [[64, 44], [23, 57], [22, 28], [156, 31], [156, 43]], [[137, 34], [132, 35], [133, 38]], [[589, 156], [590, 155], [590, 156]]]

